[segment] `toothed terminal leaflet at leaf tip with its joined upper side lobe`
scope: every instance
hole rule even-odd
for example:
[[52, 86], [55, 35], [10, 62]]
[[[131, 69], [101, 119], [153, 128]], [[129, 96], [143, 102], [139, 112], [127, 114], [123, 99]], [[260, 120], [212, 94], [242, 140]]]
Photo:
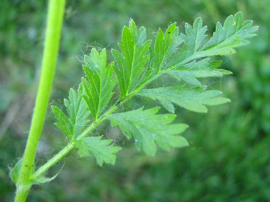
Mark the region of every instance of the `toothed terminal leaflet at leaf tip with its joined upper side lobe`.
[[171, 61], [171, 66], [179, 66], [194, 59], [209, 57], [212, 55], [228, 55], [235, 53], [234, 48], [248, 43], [246, 38], [256, 36], [254, 32], [257, 26], [252, 27], [252, 21], [243, 22], [241, 12], [235, 17], [230, 15], [222, 25], [218, 22], [213, 37], [202, 47], [200, 45], [205, 38], [206, 26], [202, 27], [201, 18], [194, 21], [193, 28], [186, 23], [186, 35], [182, 34], [184, 47]]

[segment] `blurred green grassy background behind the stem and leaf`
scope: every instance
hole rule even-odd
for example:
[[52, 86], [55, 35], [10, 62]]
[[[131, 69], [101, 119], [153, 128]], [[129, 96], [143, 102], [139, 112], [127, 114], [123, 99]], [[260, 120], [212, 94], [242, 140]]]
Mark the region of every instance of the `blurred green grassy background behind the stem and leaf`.
[[[47, 1], [0, 2], [0, 202], [12, 201], [15, 186], [7, 165], [22, 156], [35, 101], [44, 41]], [[270, 201], [270, 1], [269, 0], [72, 0], [67, 1], [60, 52], [50, 105], [63, 107], [68, 90], [83, 75], [79, 60], [91, 46], [116, 48], [129, 18], [148, 30], [201, 17], [208, 35], [217, 21], [241, 11], [259, 26], [250, 44], [223, 60], [233, 75], [208, 79], [231, 103], [209, 107], [207, 114], [177, 108], [176, 121], [190, 127], [183, 135], [188, 148], [158, 151], [155, 157], [137, 151], [132, 140], [104, 123], [101, 133], [123, 149], [116, 164], [100, 168], [94, 158], [74, 152], [51, 168], [57, 178], [35, 185], [27, 201]], [[109, 61], [112, 60], [109, 55]], [[170, 78], [165, 78], [170, 81]], [[167, 82], [166, 80], [163, 82]], [[127, 108], [153, 106], [137, 99]], [[159, 105], [159, 103], [154, 103]], [[162, 110], [161, 110], [162, 111]], [[165, 110], [162, 112], [166, 113]], [[37, 152], [46, 162], [67, 141], [53, 123], [48, 107]]]

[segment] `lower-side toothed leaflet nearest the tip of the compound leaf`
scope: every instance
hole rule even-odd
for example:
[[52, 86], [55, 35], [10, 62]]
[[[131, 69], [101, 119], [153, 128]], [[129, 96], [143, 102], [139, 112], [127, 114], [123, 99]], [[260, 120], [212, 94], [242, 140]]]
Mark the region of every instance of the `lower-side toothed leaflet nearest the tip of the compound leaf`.
[[172, 69], [165, 70], [165, 73], [172, 75], [178, 80], [185, 80], [194, 85], [201, 85], [196, 78], [232, 74], [230, 71], [216, 69], [220, 66], [221, 61], [209, 62], [210, 58], [205, 58], [200, 61], [193, 60], [185, 65], [176, 66]]

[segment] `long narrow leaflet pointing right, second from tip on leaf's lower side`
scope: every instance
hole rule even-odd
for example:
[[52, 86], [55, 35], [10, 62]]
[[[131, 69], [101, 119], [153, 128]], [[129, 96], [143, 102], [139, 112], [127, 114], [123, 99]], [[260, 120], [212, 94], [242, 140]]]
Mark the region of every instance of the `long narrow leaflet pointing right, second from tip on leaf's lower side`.
[[146, 96], [153, 100], [159, 100], [160, 103], [170, 112], [174, 113], [175, 108], [171, 102], [184, 107], [190, 111], [207, 112], [204, 105], [220, 105], [230, 100], [228, 98], [216, 97], [221, 94], [220, 91], [204, 91], [205, 86], [184, 89], [184, 86], [165, 87], [156, 89], [143, 89], [135, 95]]

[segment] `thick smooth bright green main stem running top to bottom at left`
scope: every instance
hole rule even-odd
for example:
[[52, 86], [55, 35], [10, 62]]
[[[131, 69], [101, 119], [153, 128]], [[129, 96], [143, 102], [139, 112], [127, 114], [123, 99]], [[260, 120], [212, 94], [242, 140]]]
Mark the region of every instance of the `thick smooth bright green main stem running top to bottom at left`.
[[42, 131], [50, 97], [57, 53], [59, 49], [65, 2], [65, 0], [49, 1], [40, 82], [30, 132], [24, 151], [23, 163], [20, 170], [19, 179], [16, 182], [17, 190], [15, 202], [25, 201], [28, 191], [31, 188], [31, 185], [29, 184], [30, 176], [33, 173], [36, 148]]

